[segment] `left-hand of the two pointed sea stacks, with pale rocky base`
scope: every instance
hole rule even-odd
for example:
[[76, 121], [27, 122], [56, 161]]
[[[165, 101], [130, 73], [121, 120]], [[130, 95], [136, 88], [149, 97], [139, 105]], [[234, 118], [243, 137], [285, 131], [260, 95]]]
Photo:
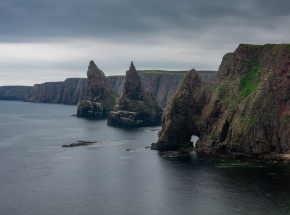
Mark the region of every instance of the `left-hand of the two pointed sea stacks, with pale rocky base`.
[[94, 61], [88, 67], [88, 81], [86, 86], [86, 100], [78, 102], [78, 117], [107, 117], [114, 109], [117, 93], [113, 92], [109, 78], [105, 76]]

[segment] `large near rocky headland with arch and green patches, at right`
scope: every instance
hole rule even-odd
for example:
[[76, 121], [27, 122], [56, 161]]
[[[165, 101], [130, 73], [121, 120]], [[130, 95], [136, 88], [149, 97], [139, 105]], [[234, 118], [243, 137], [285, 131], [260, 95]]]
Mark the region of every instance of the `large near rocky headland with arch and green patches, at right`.
[[241, 44], [223, 58], [218, 82], [189, 71], [162, 117], [152, 148], [227, 155], [289, 153], [290, 46]]

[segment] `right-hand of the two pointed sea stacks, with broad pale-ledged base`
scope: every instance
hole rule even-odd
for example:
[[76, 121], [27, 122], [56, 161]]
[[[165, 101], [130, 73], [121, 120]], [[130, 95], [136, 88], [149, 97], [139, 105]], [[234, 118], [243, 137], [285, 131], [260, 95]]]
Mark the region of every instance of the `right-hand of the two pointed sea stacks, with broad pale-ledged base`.
[[108, 125], [149, 126], [160, 125], [162, 109], [151, 92], [143, 89], [133, 62], [126, 72], [122, 95], [108, 117]]

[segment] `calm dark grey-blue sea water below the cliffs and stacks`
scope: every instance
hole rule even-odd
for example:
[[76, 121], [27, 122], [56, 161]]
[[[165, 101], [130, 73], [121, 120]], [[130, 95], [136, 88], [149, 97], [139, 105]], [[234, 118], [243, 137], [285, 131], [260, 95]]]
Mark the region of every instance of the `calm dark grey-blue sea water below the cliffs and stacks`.
[[[290, 214], [290, 168], [146, 149], [160, 127], [115, 128], [76, 106], [0, 101], [0, 214]], [[63, 148], [78, 140], [91, 146]], [[133, 151], [126, 151], [133, 149]]]

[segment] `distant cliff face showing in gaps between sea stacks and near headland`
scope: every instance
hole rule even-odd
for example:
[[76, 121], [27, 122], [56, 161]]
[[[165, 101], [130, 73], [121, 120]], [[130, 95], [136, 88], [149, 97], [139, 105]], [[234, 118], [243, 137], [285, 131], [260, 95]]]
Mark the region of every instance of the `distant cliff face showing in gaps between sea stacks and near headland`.
[[[185, 71], [138, 71], [145, 91], [152, 92], [158, 104], [165, 108], [170, 98], [176, 92]], [[213, 83], [216, 80], [216, 71], [198, 71], [201, 80]], [[109, 76], [114, 92], [121, 94], [125, 76]]]

